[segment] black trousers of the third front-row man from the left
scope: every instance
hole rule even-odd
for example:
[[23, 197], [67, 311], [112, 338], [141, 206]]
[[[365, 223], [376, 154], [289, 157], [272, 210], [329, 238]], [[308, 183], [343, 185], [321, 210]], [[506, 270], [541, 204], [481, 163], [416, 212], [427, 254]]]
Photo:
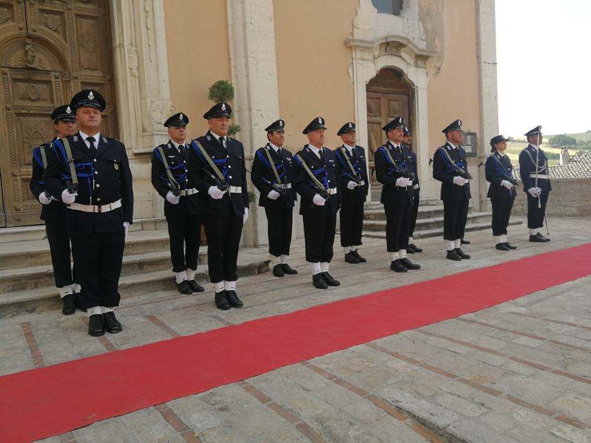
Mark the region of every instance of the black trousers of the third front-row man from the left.
[[302, 218], [304, 220], [306, 262], [330, 263], [333, 260], [337, 214], [318, 212], [317, 214], [305, 214]]

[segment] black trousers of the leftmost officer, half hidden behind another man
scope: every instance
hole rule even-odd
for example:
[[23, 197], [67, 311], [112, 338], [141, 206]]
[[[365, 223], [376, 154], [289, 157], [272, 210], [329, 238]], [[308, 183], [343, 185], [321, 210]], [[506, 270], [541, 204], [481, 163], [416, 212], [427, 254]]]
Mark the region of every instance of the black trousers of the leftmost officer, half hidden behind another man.
[[74, 272], [70, 262], [70, 238], [65, 220], [45, 220], [45, 233], [52, 254], [56, 288], [74, 283]]

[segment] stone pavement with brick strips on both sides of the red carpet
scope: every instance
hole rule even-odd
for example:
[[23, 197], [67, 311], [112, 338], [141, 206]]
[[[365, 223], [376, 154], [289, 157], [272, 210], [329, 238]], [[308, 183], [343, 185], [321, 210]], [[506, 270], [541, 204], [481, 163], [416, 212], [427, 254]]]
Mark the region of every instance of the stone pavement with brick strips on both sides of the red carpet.
[[[124, 331], [100, 339], [86, 334], [81, 313], [3, 319], [0, 352], [12, 358], [0, 359], [0, 374], [591, 242], [590, 219], [549, 221], [548, 244], [527, 242], [524, 225], [510, 228], [509, 241], [519, 248], [511, 252], [496, 251], [489, 232], [470, 233], [465, 249], [473, 259], [462, 262], [445, 260], [441, 239], [418, 240], [425, 252], [410, 258], [423, 269], [403, 275], [389, 270], [385, 240], [364, 239], [368, 264], [345, 264], [335, 248], [331, 274], [342, 286], [328, 291], [311, 285], [298, 241], [291, 264], [300, 275], [239, 280], [242, 310], [216, 310], [210, 284], [194, 296], [148, 289], [142, 296], [123, 295], [118, 317]], [[540, 272], [552, 272], [552, 263]], [[43, 441], [591, 442], [590, 288], [591, 277], [585, 277]]]

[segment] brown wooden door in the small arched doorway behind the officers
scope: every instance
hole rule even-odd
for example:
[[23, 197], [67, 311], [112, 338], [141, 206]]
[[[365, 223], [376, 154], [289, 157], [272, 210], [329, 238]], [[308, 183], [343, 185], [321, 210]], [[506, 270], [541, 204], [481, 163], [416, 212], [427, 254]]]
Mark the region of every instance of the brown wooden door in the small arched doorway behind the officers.
[[366, 87], [369, 165], [372, 181], [374, 154], [383, 142], [384, 125], [394, 117], [402, 116], [412, 129], [412, 88], [404, 80], [403, 73], [397, 69], [384, 68], [372, 78]]

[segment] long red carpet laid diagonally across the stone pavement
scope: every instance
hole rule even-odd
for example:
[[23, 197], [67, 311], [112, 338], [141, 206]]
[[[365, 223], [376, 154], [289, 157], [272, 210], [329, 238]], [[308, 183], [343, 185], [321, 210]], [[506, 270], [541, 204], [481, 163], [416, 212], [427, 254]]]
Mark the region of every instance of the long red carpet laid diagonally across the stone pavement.
[[65, 433], [589, 274], [591, 244], [2, 376], [0, 440]]

